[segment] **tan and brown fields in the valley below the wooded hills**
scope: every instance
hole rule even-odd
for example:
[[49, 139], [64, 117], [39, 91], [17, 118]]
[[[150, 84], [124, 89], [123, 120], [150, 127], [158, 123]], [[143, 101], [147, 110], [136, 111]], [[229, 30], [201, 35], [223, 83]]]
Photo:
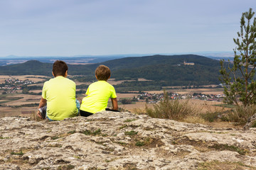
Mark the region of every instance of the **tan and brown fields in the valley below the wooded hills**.
[[[50, 77], [43, 77], [43, 76], [0, 76], [0, 82], [2, 83], [5, 79], [19, 79], [19, 80], [31, 80], [33, 82], [41, 81], [40, 84], [31, 84], [28, 86], [43, 86], [43, 82], [46, 81], [46, 79], [49, 79]], [[145, 79], [139, 79], [139, 81], [146, 81]], [[123, 81], [114, 81], [113, 79], [110, 79], [110, 84], [120, 84]], [[75, 82], [77, 85], [81, 84], [87, 84], [90, 83], [80, 83]], [[86, 90], [86, 89], [77, 89], [79, 90]], [[167, 92], [171, 93], [178, 93], [181, 95], [188, 95], [188, 94], [223, 94], [223, 89], [221, 88], [212, 88], [212, 89], [171, 89], [166, 90]], [[41, 93], [41, 89], [31, 90], [30, 93], [33, 92], [34, 94]], [[120, 100], [122, 98], [134, 98], [138, 96], [138, 91], [130, 91], [129, 94], [117, 94], [117, 99]], [[149, 94], [162, 94], [164, 91], [145, 91]], [[0, 94], [2, 92], [0, 91]], [[78, 94], [78, 100], [82, 101], [82, 98], [85, 97], [85, 94]], [[16, 91], [12, 94], [2, 94], [0, 95], [0, 118], [6, 117], [6, 116], [28, 116], [33, 115], [36, 113], [38, 108], [38, 103], [41, 99], [41, 95], [31, 95], [31, 94], [22, 94], [21, 90]], [[189, 103], [191, 103], [191, 106], [196, 106], [198, 111], [200, 113], [209, 113], [209, 112], [215, 112], [215, 111], [226, 111], [228, 108], [220, 107], [219, 105], [223, 104], [221, 101], [206, 101], [206, 100], [199, 100], [199, 99], [190, 99]], [[28, 105], [31, 105], [28, 107]], [[217, 106], [218, 105], [218, 106]], [[111, 102], [110, 102], [111, 106]], [[132, 102], [132, 104], [122, 104], [119, 102], [119, 108], [122, 108], [122, 111], [130, 111], [133, 113], [139, 113], [144, 112], [145, 106], [151, 107], [153, 104], [146, 103], [144, 100], [139, 100], [137, 102]]]

